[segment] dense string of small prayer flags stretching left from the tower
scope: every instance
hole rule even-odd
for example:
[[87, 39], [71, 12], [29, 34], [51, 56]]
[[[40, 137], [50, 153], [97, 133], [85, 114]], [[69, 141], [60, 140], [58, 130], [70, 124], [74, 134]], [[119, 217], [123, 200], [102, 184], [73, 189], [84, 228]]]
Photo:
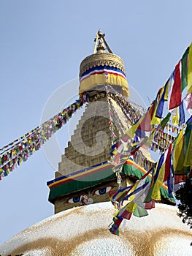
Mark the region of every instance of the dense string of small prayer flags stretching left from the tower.
[[[19, 167], [22, 162], [26, 162], [34, 152], [60, 129], [69, 118], [87, 101], [87, 96], [77, 99], [68, 108], [64, 108], [57, 115], [45, 121], [39, 127], [23, 135], [13, 143], [5, 146], [5, 151], [0, 154], [0, 179], [7, 176], [16, 167]], [[17, 141], [17, 143], [15, 143]], [[9, 147], [11, 146], [11, 147]]]

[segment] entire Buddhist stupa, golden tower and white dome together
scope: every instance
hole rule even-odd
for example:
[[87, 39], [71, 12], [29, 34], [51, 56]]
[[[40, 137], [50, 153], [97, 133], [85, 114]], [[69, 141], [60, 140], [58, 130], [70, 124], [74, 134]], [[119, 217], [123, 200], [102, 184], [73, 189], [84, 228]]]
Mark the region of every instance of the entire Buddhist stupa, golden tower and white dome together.
[[[54, 117], [56, 121], [38, 128], [35, 138], [34, 131], [31, 135], [34, 141], [41, 135], [44, 142], [45, 127], [50, 136], [85, 105], [55, 177], [47, 181], [55, 214], [10, 238], [0, 246], [0, 255], [192, 255], [192, 231], [178, 217], [166, 182], [153, 204], [141, 199], [152, 186], [156, 163], [145, 143], [135, 146], [140, 139], [132, 141], [127, 131], [146, 110], [128, 99], [123, 60], [112, 53], [100, 30], [93, 54], [80, 63], [79, 76], [80, 99]], [[172, 136], [161, 143], [161, 150], [170, 141]], [[40, 144], [37, 140], [35, 146]], [[21, 157], [27, 153], [26, 149]], [[134, 202], [130, 212], [123, 208], [127, 202]]]

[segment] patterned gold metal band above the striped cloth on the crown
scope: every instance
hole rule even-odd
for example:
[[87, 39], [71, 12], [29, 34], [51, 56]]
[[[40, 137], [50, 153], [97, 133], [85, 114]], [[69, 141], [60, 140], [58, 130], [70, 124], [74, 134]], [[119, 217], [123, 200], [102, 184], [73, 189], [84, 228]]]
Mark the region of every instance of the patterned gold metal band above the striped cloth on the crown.
[[96, 53], [82, 60], [80, 64], [80, 77], [82, 73], [96, 66], [117, 67], [126, 74], [124, 62], [118, 55], [113, 53]]

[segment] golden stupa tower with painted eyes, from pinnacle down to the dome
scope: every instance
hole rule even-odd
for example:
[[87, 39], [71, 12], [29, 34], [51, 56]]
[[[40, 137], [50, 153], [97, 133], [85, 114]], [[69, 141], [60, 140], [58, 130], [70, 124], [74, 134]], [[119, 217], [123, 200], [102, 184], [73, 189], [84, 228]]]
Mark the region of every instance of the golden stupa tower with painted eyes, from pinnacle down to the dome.
[[[109, 193], [118, 187], [117, 177], [112, 172], [110, 149], [115, 138], [124, 132], [139, 118], [142, 107], [129, 105], [123, 111], [122, 102], [115, 100], [115, 94], [128, 99], [129, 90], [123, 60], [112, 53], [104, 39], [105, 34], [99, 30], [95, 38], [93, 54], [87, 56], [80, 64], [80, 97], [86, 97], [85, 111], [74, 130], [65, 153], [61, 156], [55, 178], [48, 181], [50, 187], [49, 201], [55, 206], [55, 214], [82, 204], [100, 203], [109, 200]], [[146, 161], [153, 163], [149, 154], [140, 149]], [[123, 186], [140, 178], [142, 167], [131, 162], [123, 169]], [[135, 174], [133, 176], [133, 170]], [[136, 171], [137, 170], [137, 171]], [[161, 189], [161, 195], [173, 203]]]

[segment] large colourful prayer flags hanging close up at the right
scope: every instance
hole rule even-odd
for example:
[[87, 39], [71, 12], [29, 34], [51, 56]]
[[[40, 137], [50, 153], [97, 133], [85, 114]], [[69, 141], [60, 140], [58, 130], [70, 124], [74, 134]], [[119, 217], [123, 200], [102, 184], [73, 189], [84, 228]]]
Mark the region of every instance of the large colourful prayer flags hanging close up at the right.
[[[184, 96], [183, 91], [187, 89]], [[164, 113], [164, 103], [168, 102], [168, 111], [166, 118], [162, 119]], [[185, 123], [185, 111], [190, 113], [191, 117]], [[172, 124], [169, 124], [172, 116]], [[167, 132], [164, 132], [167, 129]], [[167, 183], [169, 196], [172, 197], [174, 184], [185, 181], [185, 176], [191, 173], [192, 169], [192, 44], [185, 50], [182, 59], [178, 61], [174, 71], [170, 75], [162, 89], [148, 108], [147, 112], [139, 118], [126, 131], [129, 143], [128, 151], [134, 152], [134, 159], [142, 162], [140, 151], [141, 146], [149, 147], [154, 151], [162, 152], [155, 170], [152, 174], [150, 183], [142, 184], [146, 191], [142, 193], [139, 190], [138, 183], [134, 184], [131, 190], [123, 195], [124, 200], [131, 200], [126, 206], [118, 209], [118, 213], [113, 218], [113, 225], [110, 231], [114, 234], [119, 233], [119, 226], [123, 219], [130, 219], [132, 214], [139, 217], [145, 216], [140, 211], [144, 203], [148, 207], [154, 207], [155, 200], [161, 200], [160, 189], [164, 182]], [[139, 138], [135, 140], [136, 138]], [[131, 141], [130, 141], [131, 140]], [[134, 148], [133, 148], [134, 146]], [[120, 154], [122, 154], [121, 152]], [[121, 157], [118, 157], [120, 160]], [[140, 163], [141, 164], [141, 163]], [[142, 164], [141, 164], [142, 165]], [[138, 190], [137, 190], [138, 189]], [[138, 192], [138, 194], [137, 194]], [[141, 197], [139, 195], [141, 192]], [[117, 194], [118, 195], [118, 194]], [[126, 197], [125, 197], [126, 195]], [[138, 200], [137, 200], [138, 195]], [[121, 197], [122, 198], [122, 197]], [[121, 206], [121, 205], [119, 205]], [[147, 207], [147, 206], [145, 206]]]

